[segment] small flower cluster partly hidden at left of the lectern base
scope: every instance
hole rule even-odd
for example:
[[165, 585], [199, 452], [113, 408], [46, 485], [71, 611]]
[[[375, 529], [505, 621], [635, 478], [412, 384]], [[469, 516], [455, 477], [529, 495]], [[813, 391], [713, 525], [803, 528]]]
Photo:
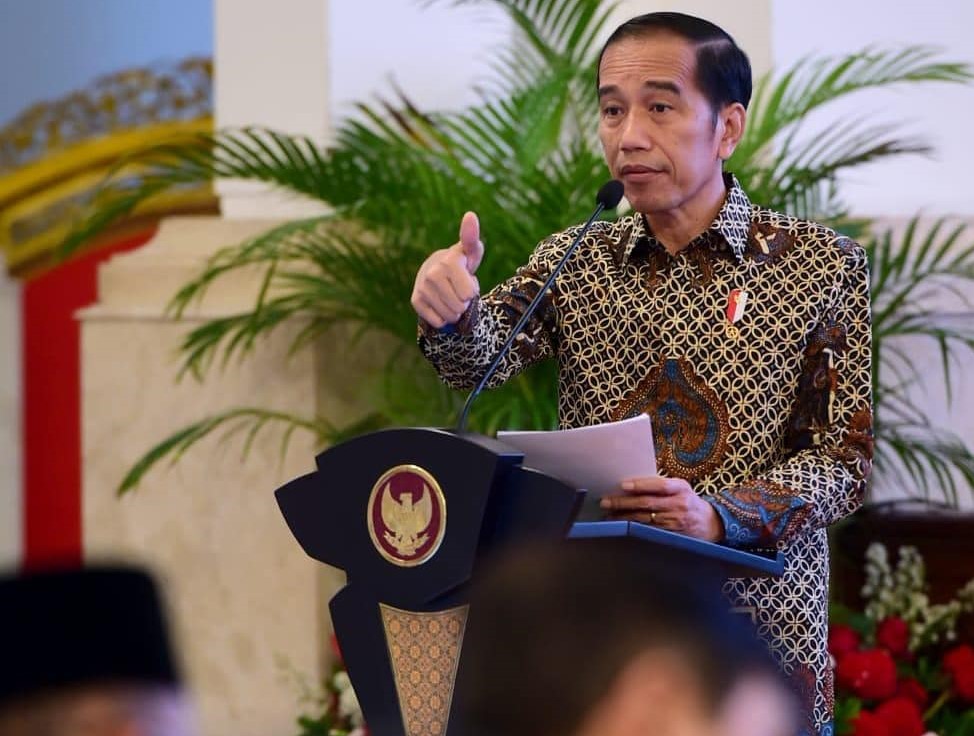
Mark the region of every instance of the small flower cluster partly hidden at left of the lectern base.
[[320, 685], [312, 687], [305, 678], [295, 675], [306, 709], [298, 716], [297, 736], [369, 736], [334, 634], [331, 648], [334, 664]]

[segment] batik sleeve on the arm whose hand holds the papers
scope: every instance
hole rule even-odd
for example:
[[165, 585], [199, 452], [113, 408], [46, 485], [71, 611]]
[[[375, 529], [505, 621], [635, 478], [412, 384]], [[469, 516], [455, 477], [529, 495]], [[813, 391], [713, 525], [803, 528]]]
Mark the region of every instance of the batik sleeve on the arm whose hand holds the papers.
[[869, 268], [856, 243], [836, 247], [842, 267], [805, 348], [785, 459], [709, 499], [731, 546], [788, 542], [862, 504], [873, 456]]

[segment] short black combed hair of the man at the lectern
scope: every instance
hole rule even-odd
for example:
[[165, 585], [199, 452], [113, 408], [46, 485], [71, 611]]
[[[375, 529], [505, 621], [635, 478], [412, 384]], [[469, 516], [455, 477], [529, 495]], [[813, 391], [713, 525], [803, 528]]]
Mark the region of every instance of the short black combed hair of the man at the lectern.
[[[615, 43], [653, 33], [671, 33], [690, 41], [697, 51], [696, 83], [716, 114], [724, 105], [751, 101], [751, 62], [727, 31], [710, 21], [684, 13], [646, 13], [627, 20], [612, 32], [599, 54]], [[596, 72], [598, 85], [598, 72]]]

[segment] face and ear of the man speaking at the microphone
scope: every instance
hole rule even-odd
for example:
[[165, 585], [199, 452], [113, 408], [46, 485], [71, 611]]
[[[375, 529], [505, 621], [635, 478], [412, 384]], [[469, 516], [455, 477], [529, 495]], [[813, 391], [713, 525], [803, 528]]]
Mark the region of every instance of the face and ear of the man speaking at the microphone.
[[695, 81], [696, 51], [673, 34], [627, 38], [599, 66], [599, 137], [612, 176], [648, 215], [691, 210], [723, 192], [725, 123]]

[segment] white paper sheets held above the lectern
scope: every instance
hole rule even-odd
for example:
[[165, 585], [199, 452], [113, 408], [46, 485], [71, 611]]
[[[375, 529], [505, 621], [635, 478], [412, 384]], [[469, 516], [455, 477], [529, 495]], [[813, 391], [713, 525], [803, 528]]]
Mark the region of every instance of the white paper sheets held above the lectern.
[[524, 452], [524, 465], [595, 496], [619, 492], [627, 478], [656, 475], [653, 427], [646, 414], [556, 432], [498, 432]]

